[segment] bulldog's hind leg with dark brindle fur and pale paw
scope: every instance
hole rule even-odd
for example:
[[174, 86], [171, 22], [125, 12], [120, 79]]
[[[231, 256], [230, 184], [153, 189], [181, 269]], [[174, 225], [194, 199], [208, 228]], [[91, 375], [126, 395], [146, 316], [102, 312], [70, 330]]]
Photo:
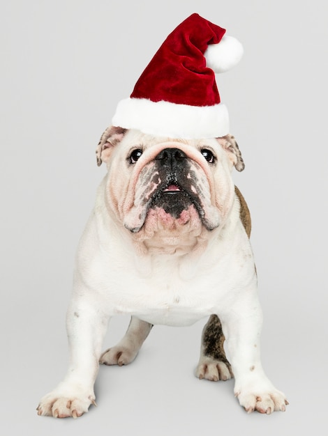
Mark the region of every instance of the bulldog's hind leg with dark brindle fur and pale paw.
[[218, 316], [211, 315], [202, 332], [200, 361], [196, 369], [196, 377], [217, 382], [233, 377], [230, 363], [225, 357], [221, 321]]

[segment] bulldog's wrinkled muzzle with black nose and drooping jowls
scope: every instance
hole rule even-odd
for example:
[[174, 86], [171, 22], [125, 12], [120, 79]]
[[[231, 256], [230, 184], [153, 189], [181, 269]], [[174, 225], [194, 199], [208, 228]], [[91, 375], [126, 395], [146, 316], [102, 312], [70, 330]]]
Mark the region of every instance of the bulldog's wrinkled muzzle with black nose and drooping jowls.
[[191, 208], [197, 212], [193, 217], [208, 230], [218, 226], [218, 211], [211, 205], [209, 184], [200, 164], [179, 148], [164, 148], [140, 171], [133, 207], [124, 224], [137, 233], [150, 210], [163, 210], [172, 219], [179, 219]]

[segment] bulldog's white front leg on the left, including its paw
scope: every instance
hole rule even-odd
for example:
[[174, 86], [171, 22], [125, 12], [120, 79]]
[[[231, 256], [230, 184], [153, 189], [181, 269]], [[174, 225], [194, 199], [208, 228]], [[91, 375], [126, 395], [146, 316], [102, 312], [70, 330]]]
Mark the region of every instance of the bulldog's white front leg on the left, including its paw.
[[40, 400], [38, 414], [66, 418], [81, 416], [96, 404], [94, 382], [98, 373], [108, 317], [88, 301], [72, 302], [67, 313], [70, 366], [66, 377]]

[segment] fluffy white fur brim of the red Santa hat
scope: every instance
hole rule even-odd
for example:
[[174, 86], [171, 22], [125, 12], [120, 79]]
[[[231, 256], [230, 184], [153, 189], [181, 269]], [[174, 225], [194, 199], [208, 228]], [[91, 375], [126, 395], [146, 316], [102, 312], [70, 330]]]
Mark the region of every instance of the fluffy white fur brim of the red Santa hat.
[[217, 138], [229, 133], [229, 115], [222, 103], [214, 106], [188, 106], [126, 98], [117, 105], [112, 125], [161, 137]]

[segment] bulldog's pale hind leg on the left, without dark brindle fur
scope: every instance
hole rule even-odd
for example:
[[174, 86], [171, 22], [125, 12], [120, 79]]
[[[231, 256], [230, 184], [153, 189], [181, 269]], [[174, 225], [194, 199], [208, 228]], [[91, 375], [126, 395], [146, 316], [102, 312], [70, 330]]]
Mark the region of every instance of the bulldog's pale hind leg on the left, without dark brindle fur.
[[100, 364], [119, 366], [131, 364], [149, 335], [151, 327], [153, 325], [149, 322], [131, 317], [126, 334], [117, 345], [103, 352], [99, 359]]

